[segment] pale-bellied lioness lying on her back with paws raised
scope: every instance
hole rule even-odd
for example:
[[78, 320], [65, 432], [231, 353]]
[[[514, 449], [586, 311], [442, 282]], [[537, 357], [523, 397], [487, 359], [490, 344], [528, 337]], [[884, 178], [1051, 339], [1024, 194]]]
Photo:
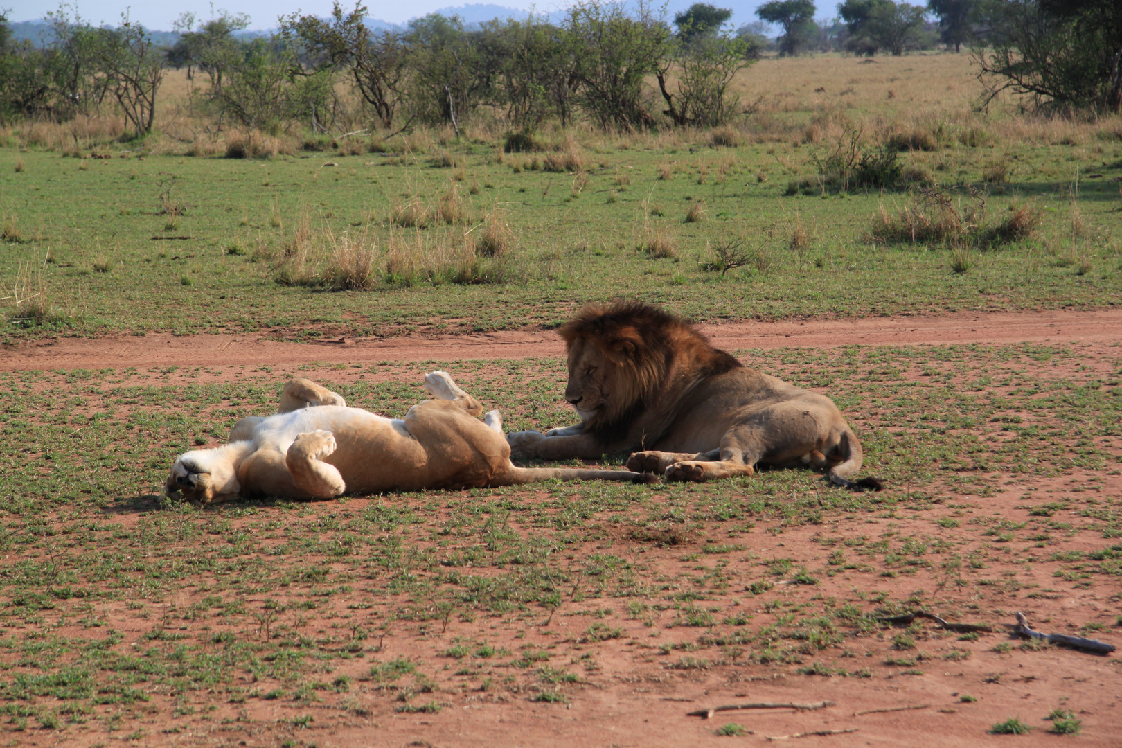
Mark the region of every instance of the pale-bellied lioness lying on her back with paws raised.
[[242, 418], [229, 444], [182, 454], [167, 495], [212, 504], [239, 496], [327, 499], [550, 478], [645, 482], [642, 473], [624, 470], [515, 468], [498, 410], [479, 421], [482, 406], [443, 371], [425, 375], [424, 387], [439, 399], [414, 405], [404, 418], [386, 418], [294, 379], [284, 387], [277, 415]]

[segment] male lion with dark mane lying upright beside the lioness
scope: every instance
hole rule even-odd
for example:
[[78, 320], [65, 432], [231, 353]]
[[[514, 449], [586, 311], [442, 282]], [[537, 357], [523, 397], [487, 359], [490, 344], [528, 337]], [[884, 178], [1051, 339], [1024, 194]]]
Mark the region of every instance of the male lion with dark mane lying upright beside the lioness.
[[861, 442], [822, 395], [748, 369], [654, 306], [586, 307], [559, 332], [569, 352], [564, 398], [581, 423], [507, 434], [512, 451], [545, 460], [635, 452], [627, 469], [668, 480], [751, 475], [757, 464], [812, 465], [846, 488]]

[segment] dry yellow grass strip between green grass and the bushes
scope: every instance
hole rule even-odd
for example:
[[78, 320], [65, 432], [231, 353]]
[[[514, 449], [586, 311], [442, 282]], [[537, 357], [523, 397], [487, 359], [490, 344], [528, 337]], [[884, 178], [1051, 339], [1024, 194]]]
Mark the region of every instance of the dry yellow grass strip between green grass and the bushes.
[[[673, 84], [673, 71], [670, 79]], [[654, 87], [653, 79], [649, 84]], [[145, 141], [146, 150], [212, 156], [226, 153], [240, 141], [247, 156], [268, 158], [291, 155], [304, 147], [305, 135], [302, 126], [295, 122], [287, 131], [276, 135], [215, 128], [194, 105], [205, 94], [205, 89], [206, 82], [201, 76], [188, 81], [185, 71], [168, 72], [157, 103], [157, 133]], [[881, 135], [922, 153], [940, 139], [971, 146], [1088, 145], [1097, 133], [1122, 133], [1122, 117], [1118, 116], [1097, 120], [1013, 116], [1004, 108], [1012, 102], [1002, 100], [991, 107], [988, 114], [975, 112], [982, 89], [971, 56], [965, 53], [932, 52], [871, 59], [839, 54], [765, 57], [741, 71], [730, 91], [739, 96], [742, 108], [751, 109], [752, 113], [703, 133], [711, 146], [818, 145], [836, 141], [846, 130], [858, 129], [868, 137]], [[341, 101], [352, 99], [343, 82], [339, 84], [339, 93]], [[358, 111], [356, 107], [350, 109]], [[359, 127], [367, 124], [361, 122]], [[462, 135], [469, 140], [497, 141], [508, 128], [499, 113], [481, 110]], [[11, 123], [0, 128], [0, 137], [22, 147], [43, 147], [79, 156], [98, 148], [121, 148], [117, 140], [125, 130], [123, 118], [104, 114], [62, 123]], [[651, 132], [606, 133], [588, 122], [578, 122], [568, 129], [557, 122], [546, 122], [535, 138], [550, 144], [550, 149], [555, 151], [545, 157], [544, 168], [580, 172], [586, 168], [586, 148], [594, 151], [681, 149], [696, 144], [698, 133], [670, 127]], [[449, 127], [416, 128], [395, 138], [394, 150], [403, 153], [404, 158], [414, 158], [434, 155], [456, 142], [456, 132]], [[365, 150], [359, 139], [335, 145], [346, 153]], [[462, 168], [456, 176], [465, 177]]]

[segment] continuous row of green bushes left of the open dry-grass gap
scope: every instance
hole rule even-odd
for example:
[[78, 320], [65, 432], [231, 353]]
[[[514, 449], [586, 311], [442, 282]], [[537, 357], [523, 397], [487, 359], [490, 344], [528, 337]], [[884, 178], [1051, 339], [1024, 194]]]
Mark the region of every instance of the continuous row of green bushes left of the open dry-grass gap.
[[[246, 16], [184, 15], [178, 40], [162, 48], [127, 18], [96, 28], [62, 12], [48, 16], [53, 44], [15, 44], [0, 17], [0, 117], [64, 120], [112, 102], [142, 136], [154, 127], [164, 74], [178, 67], [208, 83], [201, 105], [211, 116], [264, 130], [294, 120], [331, 128], [342, 105], [340, 81], [384, 129], [459, 130], [485, 107], [524, 132], [546, 118], [650, 127], [655, 107], [675, 126], [708, 127], [741, 114], [729, 84], [754, 59], [753, 45], [723, 28], [732, 12], [706, 3], [679, 13], [677, 30], [643, 3], [627, 11], [579, 2], [560, 22], [494, 20], [478, 28], [430, 15], [403, 31], [370, 29], [366, 12], [337, 1], [327, 18], [285, 16], [277, 34], [250, 40], [238, 35]], [[659, 85], [654, 99], [651, 80]]]

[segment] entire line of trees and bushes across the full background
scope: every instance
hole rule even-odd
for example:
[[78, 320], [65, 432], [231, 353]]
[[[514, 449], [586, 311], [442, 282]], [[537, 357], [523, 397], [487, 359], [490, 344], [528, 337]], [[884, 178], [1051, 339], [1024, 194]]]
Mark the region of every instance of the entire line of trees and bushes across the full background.
[[[334, 3], [319, 18], [280, 18], [268, 38], [240, 38], [246, 16], [185, 13], [178, 39], [157, 45], [122, 17], [94, 27], [59, 10], [48, 13], [53, 43], [12, 41], [0, 15], [0, 118], [66, 120], [112, 107], [137, 137], [155, 126], [157, 94], [169, 67], [200, 76], [199, 105], [219, 123], [277, 131], [294, 121], [338, 128], [340, 82], [360, 102], [358, 119], [381, 129], [413, 123], [460, 131], [480, 109], [498, 112], [514, 132], [533, 133], [546, 119], [577, 118], [605, 129], [711, 127], [742, 107], [733, 76], [771, 45], [781, 55], [843, 49], [903, 54], [932, 46], [973, 45], [991, 96], [1011, 91], [1037, 107], [1122, 104], [1122, 2], [1119, 0], [844, 0], [839, 17], [815, 21], [813, 0], [771, 0], [760, 22], [727, 28], [732, 11], [695, 3], [673, 25], [645, 2], [581, 0], [559, 21], [494, 20], [468, 28], [458, 17], [430, 15], [402, 31], [376, 31], [367, 9]], [[938, 22], [929, 20], [930, 17]], [[650, 91], [646, 83], [656, 82]], [[353, 121], [353, 112], [349, 116]]]

